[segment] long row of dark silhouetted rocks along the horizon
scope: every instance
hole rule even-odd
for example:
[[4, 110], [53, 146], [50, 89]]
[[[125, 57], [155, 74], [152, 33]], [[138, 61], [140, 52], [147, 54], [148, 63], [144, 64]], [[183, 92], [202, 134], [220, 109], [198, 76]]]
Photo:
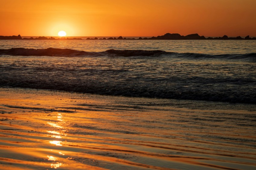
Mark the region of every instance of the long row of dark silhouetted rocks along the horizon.
[[[47, 37], [38, 37], [38, 38], [22, 38], [20, 35], [18, 36], [0, 36], [0, 40], [82, 40], [82, 38], [47, 38]], [[180, 35], [180, 34], [170, 34], [166, 33], [161, 36], [157, 37], [151, 37], [151, 38], [123, 38], [122, 36], [118, 38], [86, 38], [86, 40], [256, 40], [256, 37], [251, 38], [249, 35], [247, 35], [245, 38], [242, 38], [240, 36], [237, 37], [228, 37], [227, 35], [224, 35], [223, 37], [208, 37], [205, 38], [204, 36], [200, 36], [198, 34], [189, 34], [189, 35]]]

